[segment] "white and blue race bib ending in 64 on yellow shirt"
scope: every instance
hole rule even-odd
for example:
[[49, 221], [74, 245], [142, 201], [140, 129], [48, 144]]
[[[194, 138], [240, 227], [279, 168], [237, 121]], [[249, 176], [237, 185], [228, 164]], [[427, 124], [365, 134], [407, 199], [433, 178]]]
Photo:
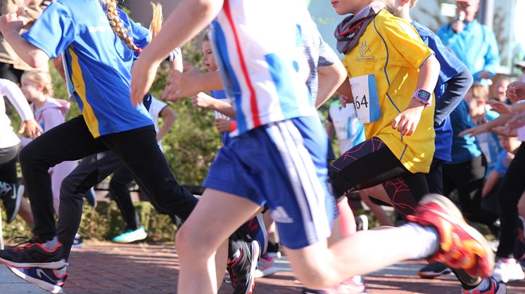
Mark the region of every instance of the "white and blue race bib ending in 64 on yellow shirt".
[[373, 123], [381, 117], [381, 107], [377, 95], [376, 78], [373, 74], [350, 78], [350, 88], [354, 98], [355, 111], [360, 123]]

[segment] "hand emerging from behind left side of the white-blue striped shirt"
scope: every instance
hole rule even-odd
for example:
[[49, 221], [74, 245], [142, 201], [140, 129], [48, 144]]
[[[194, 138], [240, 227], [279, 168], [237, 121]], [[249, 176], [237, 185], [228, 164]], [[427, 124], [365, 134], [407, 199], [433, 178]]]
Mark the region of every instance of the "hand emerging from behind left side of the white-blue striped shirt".
[[170, 78], [167, 79], [166, 87], [161, 95], [162, 100], [177, 101], [199, 91], [195, 86], [195, 79], [201, 74], [196, 67], [184, 62], [184, 73], [178, 70], [170, 70]]

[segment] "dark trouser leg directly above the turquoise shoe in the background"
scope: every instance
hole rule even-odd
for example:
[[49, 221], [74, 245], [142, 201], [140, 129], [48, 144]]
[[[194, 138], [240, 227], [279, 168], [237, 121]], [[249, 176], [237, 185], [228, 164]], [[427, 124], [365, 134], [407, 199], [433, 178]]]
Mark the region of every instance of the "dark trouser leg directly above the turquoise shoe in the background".
[[138, 229], [140, 227], [139, 214], [133, 206], [133, 201], [131, 199], [131, 193], [129, 193], [129, 188], [134, 184], [134, 179], [128, 169], [125, 167], [119, 168], [111, 181], [109, 182], [109, 190], [111, 196], [117, 202], [122, 218], [126, 222], [126, 229]]

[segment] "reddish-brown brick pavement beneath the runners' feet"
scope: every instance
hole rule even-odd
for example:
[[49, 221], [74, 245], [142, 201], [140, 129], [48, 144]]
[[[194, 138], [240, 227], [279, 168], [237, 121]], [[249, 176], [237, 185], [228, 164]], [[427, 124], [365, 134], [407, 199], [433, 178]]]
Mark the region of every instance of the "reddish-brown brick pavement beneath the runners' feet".
[[[258, 279], [255, 293], [301, 293], [286, 260], [278, 260], [279, 272]], [[424, 261], [404, 262], [365, 277], [370, 294], [461, 293], [452, 275], [433, 280], [417, 278]], [[172, 245], [88, 242], [74, 250], [68, 267], [65, 293], [175, 293], [179, 263]], [[228, 284], [220, 294], [232, 293]], [[525, 281], [514, 282], [507, 293], [525, 293]]]

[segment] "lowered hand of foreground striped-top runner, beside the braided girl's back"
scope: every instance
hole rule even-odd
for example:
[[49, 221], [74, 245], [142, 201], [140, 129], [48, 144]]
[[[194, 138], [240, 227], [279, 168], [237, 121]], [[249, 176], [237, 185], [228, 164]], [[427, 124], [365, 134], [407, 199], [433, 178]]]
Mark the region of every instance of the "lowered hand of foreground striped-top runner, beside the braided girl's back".
[[148, 60], [147, 55], [140, 55], [139, 59], [135, 61], [131, 72], [131, 100], [133, 106], [141, 103], [144, 95], [148, 93], [157, 75], [158, 65], [158, 62]]

